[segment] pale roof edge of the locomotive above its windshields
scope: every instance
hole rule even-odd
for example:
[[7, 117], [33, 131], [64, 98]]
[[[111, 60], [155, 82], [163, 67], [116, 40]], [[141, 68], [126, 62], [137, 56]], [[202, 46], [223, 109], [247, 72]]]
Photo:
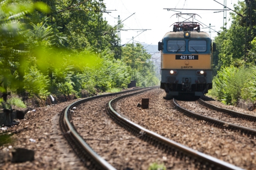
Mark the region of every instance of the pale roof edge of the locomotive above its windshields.
[[[167, 32], [164, 38], [184, 38], [184, 32]], [[190, 32], [190, 38], [210, 38], [206, 32]]]

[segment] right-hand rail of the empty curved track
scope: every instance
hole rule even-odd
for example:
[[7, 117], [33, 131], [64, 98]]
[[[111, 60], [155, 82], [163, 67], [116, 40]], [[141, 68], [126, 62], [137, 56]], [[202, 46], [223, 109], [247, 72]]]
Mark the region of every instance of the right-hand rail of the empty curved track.
[[[141, 91], [142, 92], [142, 91]], [[155, 132], [152, 132], [148, 129], [145, 129], [143, 128], [142, 126], [122, 117], [119, 113], [117, 113], [114, 108], [112, 107], [112, 105], [122, 99], [122, 98], [125, 98], [127, 96], [131, 96], [131, 95], [135, 95], [135, 94], [138, 94], [139, 92], [137, 93], [134, 93], [134, 94], [129, 94], [129, 95], [124, 95], [124, 96], [120, 96], [120, 97], [117, 97], [115, 99], [112, 99], [109, 104], [108, 104], [108, 110], [109, 112], [111, 112], [111, 114], [113, 114], [112, 116], [114, 116], [116, 119], [118, 119], [117, 121], [118, 122], [122, 122], [123, 124], [125, 124], [125, 126], [131, 126], [131, 129], [137, 131], [138, 134], [141, 134], [141, 137], [144, 137], [144, 138], [149, 138], [149, 140], [157, 140], [157, 141], [160, 141], [163, 145], [165, 146], [168, 146], [168, 147], [171, 147], [172, 151], [173, 149], [176, 150], [177, 153], [181, 152], [181, 155], [183, 155], [183, 153], [189, 155], [190, 158], [194, 158], [196, 157], [198, 160], [202, 160], [200, 161], [201, 163], [205, 164], [205, 162], [207, 162], [208, 164], [210, 165], [214, 165], [218, 168], [221, 168], [221, 169], [225, 169], [225, 170], [242, 170], [241, 168], [237, 167], [237, 166], [234, 166], [232, 164], [229, 164], [227, 162], [224, 162], [222, 160], [219, 160], [215, 157], [212, 157], [210, 155], [207, 155], [207, 154], [204, 154], [202, 152], [198, 152], [196, 150], [193, 150], [191, 148], [188, 148], [180, 143], [177, 143], [173, 140], [170, 140], [166, 137], [163, 137]]]

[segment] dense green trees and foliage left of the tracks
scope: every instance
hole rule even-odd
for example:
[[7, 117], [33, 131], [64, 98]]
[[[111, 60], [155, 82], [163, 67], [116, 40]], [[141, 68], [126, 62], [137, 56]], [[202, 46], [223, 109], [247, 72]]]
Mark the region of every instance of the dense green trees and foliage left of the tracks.
[[8, 92], [46, 99], [126, 88], [130, 80], [156, 85], [151, 56], [140, 44], [132, 79], [130, 45], [118, 55], [117, 31], [102, 19], [104, 9], [103, 0], [2, 0], [0, 101]]

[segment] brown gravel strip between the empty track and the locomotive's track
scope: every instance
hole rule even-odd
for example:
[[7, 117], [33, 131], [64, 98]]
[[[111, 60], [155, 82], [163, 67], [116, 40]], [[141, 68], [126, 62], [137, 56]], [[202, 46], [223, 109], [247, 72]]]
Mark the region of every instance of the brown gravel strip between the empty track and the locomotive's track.
[[[173, 108], [171, 100], [163, 99], [165, 95], [164, 91], [146, 92], [130, 99], [123, 99], [117, 102], [115, 107], [131, 121], [171, 140], [238, 167], [256, 169], [254, 137], [187, 117]], [[148, 109], [136, 107], [141, 98], [150, 98]], [[129, 111], [127, 108], [123, 109], [122, 105], [129, 105]], [[200, 108], [198, 105], [197, 111]]]

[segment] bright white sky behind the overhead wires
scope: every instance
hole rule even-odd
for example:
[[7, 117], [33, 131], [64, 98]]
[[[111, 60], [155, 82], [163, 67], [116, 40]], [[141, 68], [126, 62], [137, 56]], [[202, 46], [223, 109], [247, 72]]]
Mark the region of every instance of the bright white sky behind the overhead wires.
[[[216, 1], [221, 4], [224, 3], [224, 0]], [[116, 11], [108, 11], [111, 12], [108, 14], [103, 13], [103, 19], [106, 19], [110, 25], [116, 26], [118, 23], [117, 18], [119, 15], [121, 21], [124, 21], [126, 19], [124, 22], [122, 22], [124, 24], [124, 30], [135, 29], [120, 31], [121, 45], [126, 44], [132, 39], [132, 37], [134, 37], [134, 43], [157, 45], [158, 42], [162, 40], [166, 32], [172, 31], [173, 27], [171, 25], [174, 22], [184, 20], [181, 18], [176, 18], [176, 15], [174, 15], [179, 12], [198, 14], [201, 18], [199, 16], [196, 16], [195, 19], [206, 25], [205, 26], [202, 24], [202, 26], [200, 26], [201, 31], [209, 32], [209, 28], [206, 27], [209, 27], [210, 23], [212, 29], [216, 31], [221, 31], [221, 27], [223, 27], [224, 7], [217, 2], [215, 2], [214, 0], [104, 0], [103, 3], [105, 3], [106, 10]], [[226, 0], [226, 6], [233, 10], [233, 5], [237, 4], [237, 2], [238, 0]], [[181, 8], [183, 10], [175, 10], [179, 11], [175, 12], [167, 11], [163, 8]], [[222, 12], [186, 9], [218, 9], [222, 10]], [[227, 27], [229, 27], [231, 24], [231, 21], [229, 21], [230, 12], [232, 11], [227, 11]], [[142, 32], [142, 30], [145, 29], [148, 30]], [[212, 30], [211, 38], [214, 38], [214, 36], [216, 35], [217, 33]], [[130, 41], [129, 43], [131, 42], [132, 41]]]

